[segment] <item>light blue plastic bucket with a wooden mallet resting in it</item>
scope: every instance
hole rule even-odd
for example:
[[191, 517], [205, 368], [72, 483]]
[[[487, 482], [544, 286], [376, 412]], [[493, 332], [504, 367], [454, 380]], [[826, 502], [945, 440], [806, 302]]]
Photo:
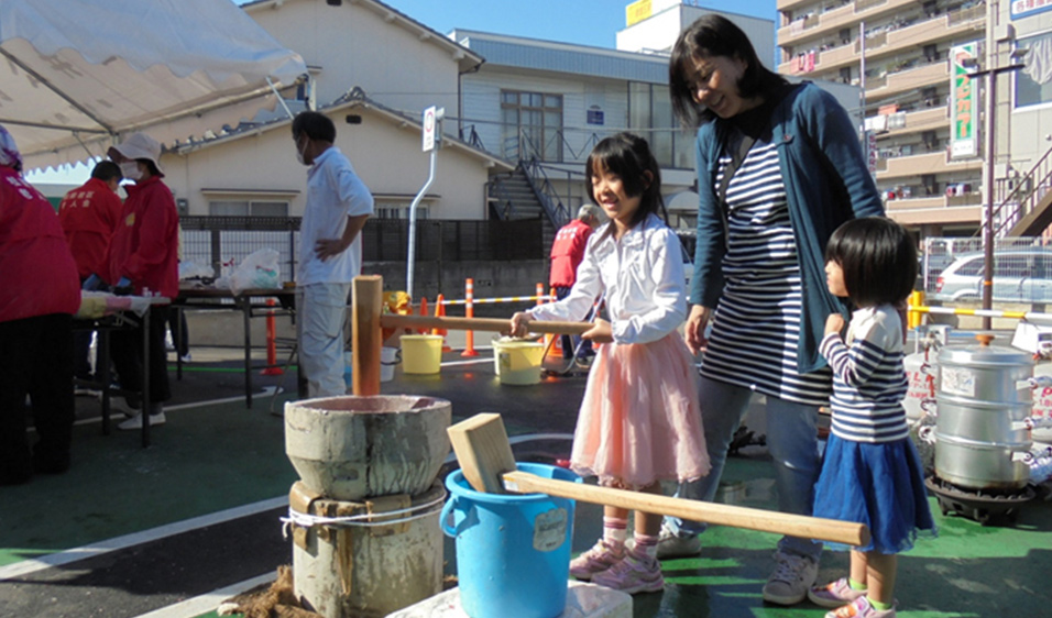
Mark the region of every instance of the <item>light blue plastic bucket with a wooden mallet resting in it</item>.
[[[561, 467], [519, 463], [545, 478], [581, 482]], [[483, 494], [461, 471], [446, 477], [442, 530], [457, 539], [460, 602], [471, 618], [555, 618], [567, 603], [573, 500]]]

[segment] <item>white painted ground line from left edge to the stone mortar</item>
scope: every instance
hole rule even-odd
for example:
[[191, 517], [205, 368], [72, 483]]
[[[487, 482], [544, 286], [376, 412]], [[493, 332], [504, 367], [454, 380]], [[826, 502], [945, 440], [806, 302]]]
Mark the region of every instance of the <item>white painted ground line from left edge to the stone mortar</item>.
[[248, 517], [250, 515], [255, 515], [257, 512], [263, 512], [287, 505], [288, 496], [281, 496], [227, 510], [220, 510], [209, 515], [184, 519], [183, 521], [176, 521], [174, 523], [166, 523], [164, 526], [151, 528], [150, 530], [124, 534], [123, 537], [114, 537], [113, 539], [107, 539], [105, 541], [91, 543], [90, 545], [84, 545], [81, 548], [74, 548], [72, 550], [66, 550], [41, 558], [33, 558], [22, 562], [15, 562], [14, 564], [0, 566], [0, 582], [14, 577], [21, 577], [31, 573], [36, 573], [39, 571], [44, 571], [45, 569], [51, 569], [52, 566], [59, 566], [63, 564], [69, 564], [70, 562], [95, 558], [133, 545], [156, 541], [157, 539], [164, 539], [165, 537], [180, 534], [183, 532], [198, 528], [205, 528], [206, 526], [222, 523], [224, 521]]

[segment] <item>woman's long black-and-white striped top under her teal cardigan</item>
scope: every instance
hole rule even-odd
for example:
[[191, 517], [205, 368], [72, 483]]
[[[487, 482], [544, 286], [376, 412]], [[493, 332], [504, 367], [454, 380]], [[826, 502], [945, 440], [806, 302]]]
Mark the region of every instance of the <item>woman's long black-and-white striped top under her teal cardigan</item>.
[[[736, 150], [732, 144], [730, 151]], [[716, 186], [731, 157], [720, 158]], [[769, 397], [829, 404], [829, 368], [797, 371], [802, 284], [778, 150], [757, 140], [727, 186], [726, 280], [701, 373]]]

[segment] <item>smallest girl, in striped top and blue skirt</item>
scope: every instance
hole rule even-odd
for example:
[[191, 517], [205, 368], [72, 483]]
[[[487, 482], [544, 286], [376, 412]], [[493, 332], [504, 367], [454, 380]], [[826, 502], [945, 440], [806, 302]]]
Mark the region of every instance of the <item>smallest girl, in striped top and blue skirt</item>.
[[854, 219], [830, 238], [825, 275], [830, 291], [858, 309], [844, 339], [844, 318], [830, 316], [820, 347], [833, 368], [833, 422], [814, 517], [865, 523], [873, 539], [852, 549], [848, 577], [813, 587], [808, 597], [837, 608], [826, 618], [888, 618], [895, 616], [895, 554], [911, 549], [918, 531], [935, 532], [901, 404], [907, 379], [896, 308], [913, 288], [917, 250], [890, 219]]

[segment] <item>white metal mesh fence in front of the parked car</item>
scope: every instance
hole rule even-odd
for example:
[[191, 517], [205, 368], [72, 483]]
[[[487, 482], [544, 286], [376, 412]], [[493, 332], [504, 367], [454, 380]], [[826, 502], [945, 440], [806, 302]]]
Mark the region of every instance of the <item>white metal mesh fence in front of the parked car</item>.
[[[1052, 243], [1044, 238], [995, 239], [993, 299], [1052, 302]], [[983, 298], [986, 255], [978, 238], [924, 239], [919, 284], [928, 298], [969, 302]]]

